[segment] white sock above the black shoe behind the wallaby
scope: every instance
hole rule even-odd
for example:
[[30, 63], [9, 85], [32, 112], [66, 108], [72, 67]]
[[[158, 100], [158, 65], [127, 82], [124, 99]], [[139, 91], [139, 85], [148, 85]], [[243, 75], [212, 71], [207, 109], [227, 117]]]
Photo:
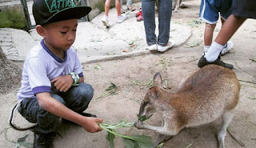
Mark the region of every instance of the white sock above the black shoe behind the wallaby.
[[222, 52], [223, 46], [218, 42], [213, 42], [210, 46], [210, 49], [205, 55], [205, 58], [208, 62], [214, 62], [217, 58], [219, 53]]

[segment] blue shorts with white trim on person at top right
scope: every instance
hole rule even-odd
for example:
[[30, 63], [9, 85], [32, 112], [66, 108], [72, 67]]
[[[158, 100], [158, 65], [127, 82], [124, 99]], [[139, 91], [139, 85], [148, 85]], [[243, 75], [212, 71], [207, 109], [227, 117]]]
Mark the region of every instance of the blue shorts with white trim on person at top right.
[[199, 19], [209, 24], [216, 24], [219, 15], [226, 20], [231, 14], [232, 0], [202, 0]]

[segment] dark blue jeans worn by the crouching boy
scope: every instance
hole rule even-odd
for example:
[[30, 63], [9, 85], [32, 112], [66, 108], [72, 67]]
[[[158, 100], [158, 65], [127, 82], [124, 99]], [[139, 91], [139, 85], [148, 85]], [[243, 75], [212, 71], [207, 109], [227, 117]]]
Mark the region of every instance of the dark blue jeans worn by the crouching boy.
[[[54, 91], [50, 94], [52, 98], [62, 102], [63, 105], [82, 113], [87, 109], [90, 100], [94, 96], [94, 89], [86, 83], [79, 83], [79, 86], [72, 86], [66, 93]], [[35, 134], [49, 134], [55, 132], [58, 128], [58, 120], [60, 117], [51, 114], [38, 105], [37, 98], [24, 98], [18, 111], [27, 121], [38, 123], [32, 131]]]

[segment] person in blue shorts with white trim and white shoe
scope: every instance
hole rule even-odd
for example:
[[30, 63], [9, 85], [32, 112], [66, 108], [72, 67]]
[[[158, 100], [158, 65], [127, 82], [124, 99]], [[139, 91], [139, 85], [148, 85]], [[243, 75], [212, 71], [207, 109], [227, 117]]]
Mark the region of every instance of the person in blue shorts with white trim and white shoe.
[[[206, 54], [210, 48], [214, 36], [214, 29], [218, 22], [219, 15], [221, 16], [221, 21], [223, 25], [226, 18], [230, 16], [231, 6], [232, 0], [202, 0], [199, 19], [206, 22], [204, 33], [204, 54]], [[222, 49], [221, 55], [226, 54], [226, 52], [228, 52], [232, 48], [233, 42], [227, 42]]]

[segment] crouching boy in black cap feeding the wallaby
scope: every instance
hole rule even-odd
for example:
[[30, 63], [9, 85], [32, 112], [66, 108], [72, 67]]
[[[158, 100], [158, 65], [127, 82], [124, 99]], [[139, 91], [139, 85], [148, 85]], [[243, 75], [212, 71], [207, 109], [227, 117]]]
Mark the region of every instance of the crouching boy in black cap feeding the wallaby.
[[102, 118], [82, 113], [94, 90], [84, 83], [82, 66], [71, 47], [78, 19], [90, 10], [88, 6], [75, 6], [71, 0], [34, 0], [36, 30], [43, 39], [27, 55], [18, 92], [18, 111], [29, 122], [37, 123], [32, 129], [34, 147], [53, 146], [59, 118], [91, 133], [102, 130], [98, 126]]

